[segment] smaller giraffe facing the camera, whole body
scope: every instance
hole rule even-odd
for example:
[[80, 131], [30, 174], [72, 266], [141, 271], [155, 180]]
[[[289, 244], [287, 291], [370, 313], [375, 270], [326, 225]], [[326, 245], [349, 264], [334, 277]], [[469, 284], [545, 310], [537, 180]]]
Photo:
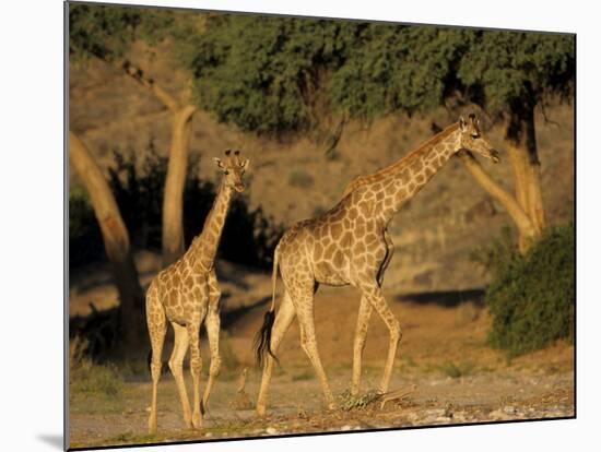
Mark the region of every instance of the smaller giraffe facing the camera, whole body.
[[[186, 427], [200, 428], [202, 415], [209, 401], [211, 388], [219, 374], [221, 359], [219, 355], [221, 292], [215, 276], [214, 260], [227, 215], [227, 209], [234, 191], [244, 190], [243, 175], [248, 159], [240, 160], [239, 151], [232, 155], [225, 151], [222, 162], [214, 157], [216, 166], [223, 171], [221, 187], [213, 207], [209, 212], [202, 233], [196, 237], [188, 251], [152, 281], [146, 293], [146, 320], [152, 344], [152, 405], [149, 418], [149, 431], [156, 431], [156, 392], [161, 377], [161, 355], [167, 331], [167, 320], [175, 332], [175, 345], [169, 358], [169, 369], [175, 378]], [[200, 326], [204, 322], [211, 367], [209, 381], [200, 401]], [[190, 346], [190, 371], [192, 373], [195, 404], [190, 414], [188, 392], [184, 382], [182, 362]]]

